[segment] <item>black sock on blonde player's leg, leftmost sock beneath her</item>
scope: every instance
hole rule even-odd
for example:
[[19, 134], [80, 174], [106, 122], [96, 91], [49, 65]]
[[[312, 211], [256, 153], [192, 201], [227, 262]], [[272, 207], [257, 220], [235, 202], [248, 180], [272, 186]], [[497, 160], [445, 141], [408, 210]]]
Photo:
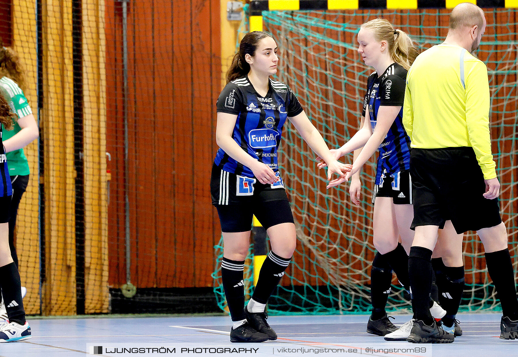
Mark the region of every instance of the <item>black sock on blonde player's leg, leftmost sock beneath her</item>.
[[378, 252], [372, 260], [372, 269], [370, 270], [372, 320], [379, 320], [385, 316], [385, 306], [389, 299], [391, 285], [392, 269], [385, 257]]

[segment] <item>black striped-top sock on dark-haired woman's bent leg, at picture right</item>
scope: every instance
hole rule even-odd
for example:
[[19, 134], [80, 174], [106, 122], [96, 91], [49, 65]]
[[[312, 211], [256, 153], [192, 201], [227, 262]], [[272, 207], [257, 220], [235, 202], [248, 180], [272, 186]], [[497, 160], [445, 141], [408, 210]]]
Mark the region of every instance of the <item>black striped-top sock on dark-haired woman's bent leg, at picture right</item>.
[[291, 258], [286, 259], [279, 257], [273, 251], [270, 250], [268, 256], [264, 260], [261, 271], [259, 272], [259, 278], [257, 279], [257, 286], [255, 287], [252, 299], [260, 304], [266, 304], [270, 295], [274, 292], [274, 289], [279, 285], [284, 271], [288, 264], [290, 264]]

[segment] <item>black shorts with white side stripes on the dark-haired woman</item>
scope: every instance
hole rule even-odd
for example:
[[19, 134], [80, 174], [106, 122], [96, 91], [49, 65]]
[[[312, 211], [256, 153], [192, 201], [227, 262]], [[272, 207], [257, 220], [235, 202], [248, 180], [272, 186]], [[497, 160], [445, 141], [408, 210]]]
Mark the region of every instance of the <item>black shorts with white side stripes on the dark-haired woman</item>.
[[255, 178], [223, 171], [213, 165], [210, 194], [212, 204], [218, 210], [222, 232], [248, 232], [254, 215], [265, 229], [294, 222], [281, 179], [265, 185]]

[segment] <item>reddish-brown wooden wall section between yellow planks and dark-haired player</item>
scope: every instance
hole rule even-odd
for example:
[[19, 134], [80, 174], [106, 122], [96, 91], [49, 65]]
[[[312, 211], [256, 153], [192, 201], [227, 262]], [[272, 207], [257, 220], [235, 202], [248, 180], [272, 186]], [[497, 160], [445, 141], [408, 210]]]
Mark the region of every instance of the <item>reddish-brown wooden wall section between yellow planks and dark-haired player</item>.
[[[106, 4], [109, 283], [126, 282], [122, 7]], [[210, 287], [220, 237], [209, 177], [221, 91], [219, 0], [130, 1], [131, 282]]]

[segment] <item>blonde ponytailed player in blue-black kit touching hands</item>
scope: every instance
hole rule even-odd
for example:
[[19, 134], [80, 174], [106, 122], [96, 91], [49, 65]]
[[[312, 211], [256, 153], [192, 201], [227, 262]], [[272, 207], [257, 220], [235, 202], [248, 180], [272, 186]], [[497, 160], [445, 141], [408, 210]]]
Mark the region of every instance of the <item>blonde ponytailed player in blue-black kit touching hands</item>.
[[[410, 287], [407, 252], [414, 236], [410, 229], [413, 217], [409, 172], [410, 139], [401, 120], [405, 79], [413, 59], [409, 55], [412, 41], [405, 32], [394, 29], [385, 19], [375, 19], [363, 24], [357, 39], [358, 53], [365, 64], [376, 71], [367, 80], [361, 129], [351, 140], [334, 151], [337, 158], [355, 151], [353, 170], [346, 177], [333, 180], [328, 187], [336, 186], [352, 176], [351, 201], [359, 205], [359, 170], [379, 150], [375, 190], [372, 195], [373, 243], [378, 252], [371, 269], [372, 314], [367, 323], [367, 332], [380, 336], [390, 334], [391, 339], [403, 339], [408, 336], [399, 335], [407, 333], [409, 324], [402, 326], [401, 331], [398, 330], [389, 320], [385, 305], [390, 293], [392, 271], [407, 291]], [[359, 148], [362, 149], [358, 150]], [[321, 167], [324, 165], [320, 164]], [[442, 232], [444, 234], [462, 244], [462, 235], [457, 236], [451, 229]], [[399, 236], [402, 244], [398, 243]], [[462, 262], [460, 249], [459, 256]], [[431, 299], [430, 311], [438, 319], [446, 314]]]

